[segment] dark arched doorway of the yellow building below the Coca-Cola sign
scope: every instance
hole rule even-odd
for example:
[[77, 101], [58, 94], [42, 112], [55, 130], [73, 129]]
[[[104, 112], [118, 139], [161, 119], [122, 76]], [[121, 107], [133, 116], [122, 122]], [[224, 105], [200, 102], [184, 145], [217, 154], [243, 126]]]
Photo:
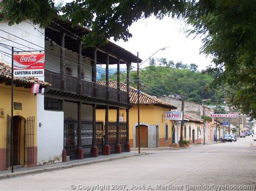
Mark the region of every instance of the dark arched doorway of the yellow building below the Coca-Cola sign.
[[14, 165], [21, 165], [22, 118], [14, 116]]

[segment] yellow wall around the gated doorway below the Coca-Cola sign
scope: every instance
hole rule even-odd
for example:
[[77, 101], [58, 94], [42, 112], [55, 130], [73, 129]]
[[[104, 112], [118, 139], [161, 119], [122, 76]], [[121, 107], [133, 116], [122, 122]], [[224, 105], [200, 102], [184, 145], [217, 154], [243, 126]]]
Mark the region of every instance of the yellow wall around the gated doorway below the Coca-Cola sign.
[[[14, 102], [22, 103], [22, 110], [14, 110], [14, 116], [22, 118], [21, 123], [21, 140], [24, 140], [24, 119], [35, 116], [35, 136], [34, 146], [37, 146], [37, 98], [30, 93], [30, 88], [14, 87]], [[4, 115], [0, 116], [0, 150], [6, 148], [6, 122], [7, 115], [11, 116], [11, 86], [0, 84], [0, 111]], [[21, 142], [21, 150], [24, 150], [24, 142]], [[2, 156], [3, 158], [3, 156]], [[3, 159], [0, 160], [3, 160]], [[4, 156], [5, 158], [5, 156]], [[21, 164], [24, 161], [24, 152], [21, 152]], [[1, 163], [1, 161], [0, 161]]]

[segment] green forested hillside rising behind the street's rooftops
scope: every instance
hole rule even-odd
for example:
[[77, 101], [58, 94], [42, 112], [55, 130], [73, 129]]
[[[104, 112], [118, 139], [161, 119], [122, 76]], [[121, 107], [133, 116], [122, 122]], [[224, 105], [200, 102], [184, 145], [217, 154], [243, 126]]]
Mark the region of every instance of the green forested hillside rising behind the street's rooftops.
[[[151, 59], [150, 66], [140, 69], [140, 87], [143, 91], [154, 96], [170, 94], [185, 95], [186, 100], [199, 102], [203, 98], [211, 98], [212, 103], [223, 97], [223, 93], [210, 88], [213, 75], [205, 74], [197, 70], [197, 65], [190, 65], [163, 58]], [[110, 80], [117, 80], [116, 74], [110, 76]], [[120, 73], [120, 81], [126, 82], [126, 73]], [[137, 71], [135, 68], [130, 73], [130, 84], [137, 87]], [[217, 97], [216, 97], [217, 95]]]

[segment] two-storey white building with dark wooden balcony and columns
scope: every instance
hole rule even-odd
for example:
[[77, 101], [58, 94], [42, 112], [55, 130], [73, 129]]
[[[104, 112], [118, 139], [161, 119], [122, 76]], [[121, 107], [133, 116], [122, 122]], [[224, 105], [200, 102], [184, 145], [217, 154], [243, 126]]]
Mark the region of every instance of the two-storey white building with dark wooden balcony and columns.
[[[114, 136], [109, 135], [108, 123], [96, 121], [96, 109], [111, 108], [117, 112], [130, 109], [129, 71], [131, 62], [137, 62], [137, 56], [110, 41], [104, 46], [86, 48], [82, 36], [90, 31], [71, 25], [56, 20], [41, 29], [29, 21], [12, 26], [8, 22], [0, 23], [0, 43], [4, 45], [0, 47], [0, 61], [11, 63], [6, 46], [14, 47], [16, 53], [45, 53], [45, 76], [39, 79], [52, 86], [43, 88], [37, 95], [38, 165], [65, 161], [66, 156], [82, 159], [130, 148], [126, 138], [125, 143], [120, 144], [120, 123], [117, 121], [114, 125]], [[97, 83], [97, 65], [105, 65], [105, 86]], [[109, 65], [117, 67], [118, 76], [120, 65], [126, 66], [126, 90], [109, 87]], [[126, 124], [123, 126], [126, 136], [129, 128]]]

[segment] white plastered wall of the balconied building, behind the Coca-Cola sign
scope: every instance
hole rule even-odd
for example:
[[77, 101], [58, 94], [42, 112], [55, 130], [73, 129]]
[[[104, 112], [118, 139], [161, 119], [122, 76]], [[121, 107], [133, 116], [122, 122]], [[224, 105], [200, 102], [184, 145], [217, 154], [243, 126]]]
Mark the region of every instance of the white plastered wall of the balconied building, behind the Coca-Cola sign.
[[[8, 34], [8, 33], [10, 34]], [[9, 26], [8, 22], [0, 22], [0, 43], [14, 46], [16, 51], [42, 51], [45, 47], [44, 29], [39, 25], [22, 22]], [[6, 40], [8, 39], [8, 40]], [[12, 40], [12, 41], [10, 41]], [[18, 49], [19, 48], [19, 49]], [[0, 51], [6, 52], [6, 48], [0, 46]], [[8, 53], [11, 53], [10, 50]], [[0, 61], [11, 65], [11, 58], [0, 52]], [[44, 77], [38, 77], [44, 80]], [[44, 94], [37, 95], [37, 164], [44, 162], [61, 161], [63, 150], [63, 121], [62, 111], [45, 111]], [[39, 127], [39, 123], [43, 126]]]

